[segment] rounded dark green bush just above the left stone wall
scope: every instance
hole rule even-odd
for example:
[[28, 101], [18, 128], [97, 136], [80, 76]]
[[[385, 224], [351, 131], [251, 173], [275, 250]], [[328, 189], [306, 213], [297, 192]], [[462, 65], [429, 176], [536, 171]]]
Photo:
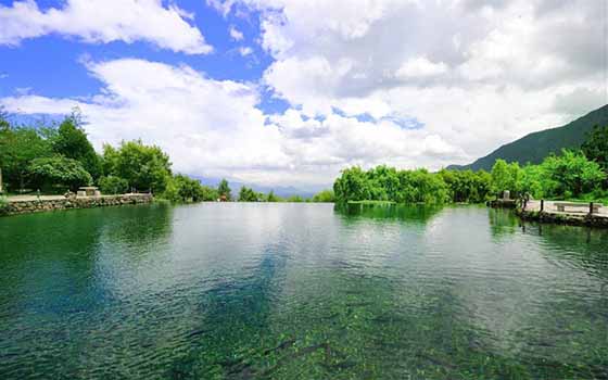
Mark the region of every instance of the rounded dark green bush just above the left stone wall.
[[91, 175], [85, 170], [83, 164], [61, 155], [33, 160], [27, 175], [35, 188], [45, 191], [56, 187], [77, 190], [78, 187], [92, 182]]

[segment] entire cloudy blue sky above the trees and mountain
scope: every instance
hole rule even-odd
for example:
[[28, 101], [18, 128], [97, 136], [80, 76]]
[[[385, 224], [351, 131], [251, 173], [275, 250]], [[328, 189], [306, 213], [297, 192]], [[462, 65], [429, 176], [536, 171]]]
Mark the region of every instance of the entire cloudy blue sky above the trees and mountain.
[[0, 106], [200, 177], [439, 169], [608, 103], [607, 3], [0, 0]]

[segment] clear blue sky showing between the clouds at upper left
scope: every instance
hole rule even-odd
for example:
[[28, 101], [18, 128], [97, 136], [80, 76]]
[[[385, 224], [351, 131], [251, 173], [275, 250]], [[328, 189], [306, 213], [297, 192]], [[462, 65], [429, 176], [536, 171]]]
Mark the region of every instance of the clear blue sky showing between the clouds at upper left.
[[[12, 0], [0, 0], [0, 4], [5, 7], [12, 3]], [[37, 1], [37, 4], [45, 11], [49, 8], [61, 8], [64, 1], [46, 0]], [[96, 93], [100, 83], [91, 77], [80, 63], [85, 58], [92, 61], [141, 58], [172, 65], [187, 64], [216, 79], [259, 80], [273, 59], [256, 43], [259, 39], [259, 17], [255, 12], [246, 18], [232, 14], [224, 17], [202, 0], [179, 1], [179, 8], [195, 14], [190, 24], [204, 30], [205, 40], [214, 47], [213, 54], [176, 53], [143, 41], [81, 43], [78, 38], [52, 34], [24, 40], [18, 47], [0, 47], [0, 75], [7, 75], [0, 87], [0, 97], [14, 94], [20, 89], [30, 89], [38, 94], [61, 98]], [[232, 39], [229, 34], [230, 27], [242, 33], [243, 39]], [[251, 48], [253, 53], [242, 56], [238, 51], [241, 47]], [[269, 113], [283, 111], [284, 102], [270, 99], [268, 94], [265, 93], [261, 107]]]

